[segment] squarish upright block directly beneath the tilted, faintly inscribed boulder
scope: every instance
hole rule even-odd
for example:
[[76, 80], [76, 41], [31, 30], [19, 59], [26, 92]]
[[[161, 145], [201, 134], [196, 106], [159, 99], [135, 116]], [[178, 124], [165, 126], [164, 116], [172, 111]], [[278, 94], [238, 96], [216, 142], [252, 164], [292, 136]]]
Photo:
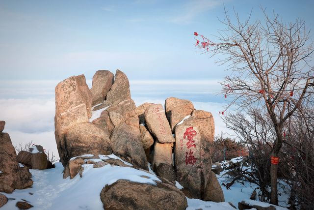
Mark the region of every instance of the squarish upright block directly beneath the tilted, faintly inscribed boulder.
[[172, 148], [173, 143], [161, 144], [158, 141], [155, 142], [153, 152], [153, 168], [157, 176], [167, 179], [169, 181], [175, 181], [175, 171], [172, 164]]

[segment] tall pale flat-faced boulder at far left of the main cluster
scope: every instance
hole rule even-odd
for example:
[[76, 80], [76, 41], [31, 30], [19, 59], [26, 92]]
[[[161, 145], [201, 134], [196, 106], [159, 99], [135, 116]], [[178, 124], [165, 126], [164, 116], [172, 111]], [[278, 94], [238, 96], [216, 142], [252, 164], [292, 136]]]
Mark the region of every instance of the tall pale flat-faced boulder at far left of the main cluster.
[[67, 159], [65, 133], [78, 123], [89, 121], [91, 105], [92, 93], [84, 75], [69, 77], [55, 87], [55, 140], [63, 164]]

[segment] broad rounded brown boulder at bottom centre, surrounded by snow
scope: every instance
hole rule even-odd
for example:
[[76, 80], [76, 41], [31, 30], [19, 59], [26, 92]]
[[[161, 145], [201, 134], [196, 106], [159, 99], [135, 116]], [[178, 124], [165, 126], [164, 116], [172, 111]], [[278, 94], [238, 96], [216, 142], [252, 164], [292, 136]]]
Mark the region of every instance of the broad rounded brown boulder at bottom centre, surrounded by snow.
[[184, 194], [175, 186], [157, 182], [157, 185], [118, 180], [105, 186], [100, 193], [104, 209], [112, 210], [185, 210]]

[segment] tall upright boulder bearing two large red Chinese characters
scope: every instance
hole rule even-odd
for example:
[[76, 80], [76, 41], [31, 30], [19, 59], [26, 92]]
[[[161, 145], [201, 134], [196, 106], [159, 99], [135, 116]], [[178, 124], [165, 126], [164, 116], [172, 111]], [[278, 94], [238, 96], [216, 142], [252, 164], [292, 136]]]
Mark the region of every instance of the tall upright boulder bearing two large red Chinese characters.
[[194, 110], [191, 117], [175, 128], [177, 180], [196, 198], [204, 199], [210, 180], [210, 147], [214, 120], [209, 112]]

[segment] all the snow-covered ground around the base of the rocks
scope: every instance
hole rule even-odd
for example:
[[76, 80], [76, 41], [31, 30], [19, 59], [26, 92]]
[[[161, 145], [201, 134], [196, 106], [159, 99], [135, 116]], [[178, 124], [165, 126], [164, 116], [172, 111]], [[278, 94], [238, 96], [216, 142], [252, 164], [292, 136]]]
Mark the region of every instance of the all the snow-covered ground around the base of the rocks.
[[[106, 158], [120, 159], [114, 154], [99, 155], [99, 157], [99, 160]], [[95, 159], [94, 162], [97, 162], [97, 160]], [[130, 163], [125, 163], [131, 165]], [[62, 171], [64, 167], [61, 163], [55, 163], [55, 166], [53, 169], [42, 171], [30, 170], [32, 180], [34, 181], [32, 188], [14, 190], [12, 194], [3, 193], [9, 198], [9, 201], [1, 210], [18, 210], [15, 204], [18, 201], [22, 201], [22, 199], [34, 206], [32, 210], [103, 210], [100, 192], [106, 184], [110, 185], [119, 179], [150, 184], [156, 184], [156, 181], [159, 181], [151, 169], [150, 173], [148, 173], [130, 167], [111, 165], [93, 168], [92, 164], [82, 165], [84, 167], [82, 178], [77, 175], [72, 180], [70, 180], [70, 177], [63, 179]], [[220, 175], [217, 175], [220, 183], [225, 179], [223, 174], [224, 172], [221, 172]], [[176, 182], [176, 186], [179, 189], [182, 188], [179, 182]], [[239, 182], [235, 182], [230, 190], [222, 186], [226, 200], [223, 203], [186, 198], [188, 203], [187, 210], [234, 210], [228, 202], [233, 203], [237, 207], [238, 202], [250, 198], [255, 187], [250, 183], [244, 183], [243, 185]]]

